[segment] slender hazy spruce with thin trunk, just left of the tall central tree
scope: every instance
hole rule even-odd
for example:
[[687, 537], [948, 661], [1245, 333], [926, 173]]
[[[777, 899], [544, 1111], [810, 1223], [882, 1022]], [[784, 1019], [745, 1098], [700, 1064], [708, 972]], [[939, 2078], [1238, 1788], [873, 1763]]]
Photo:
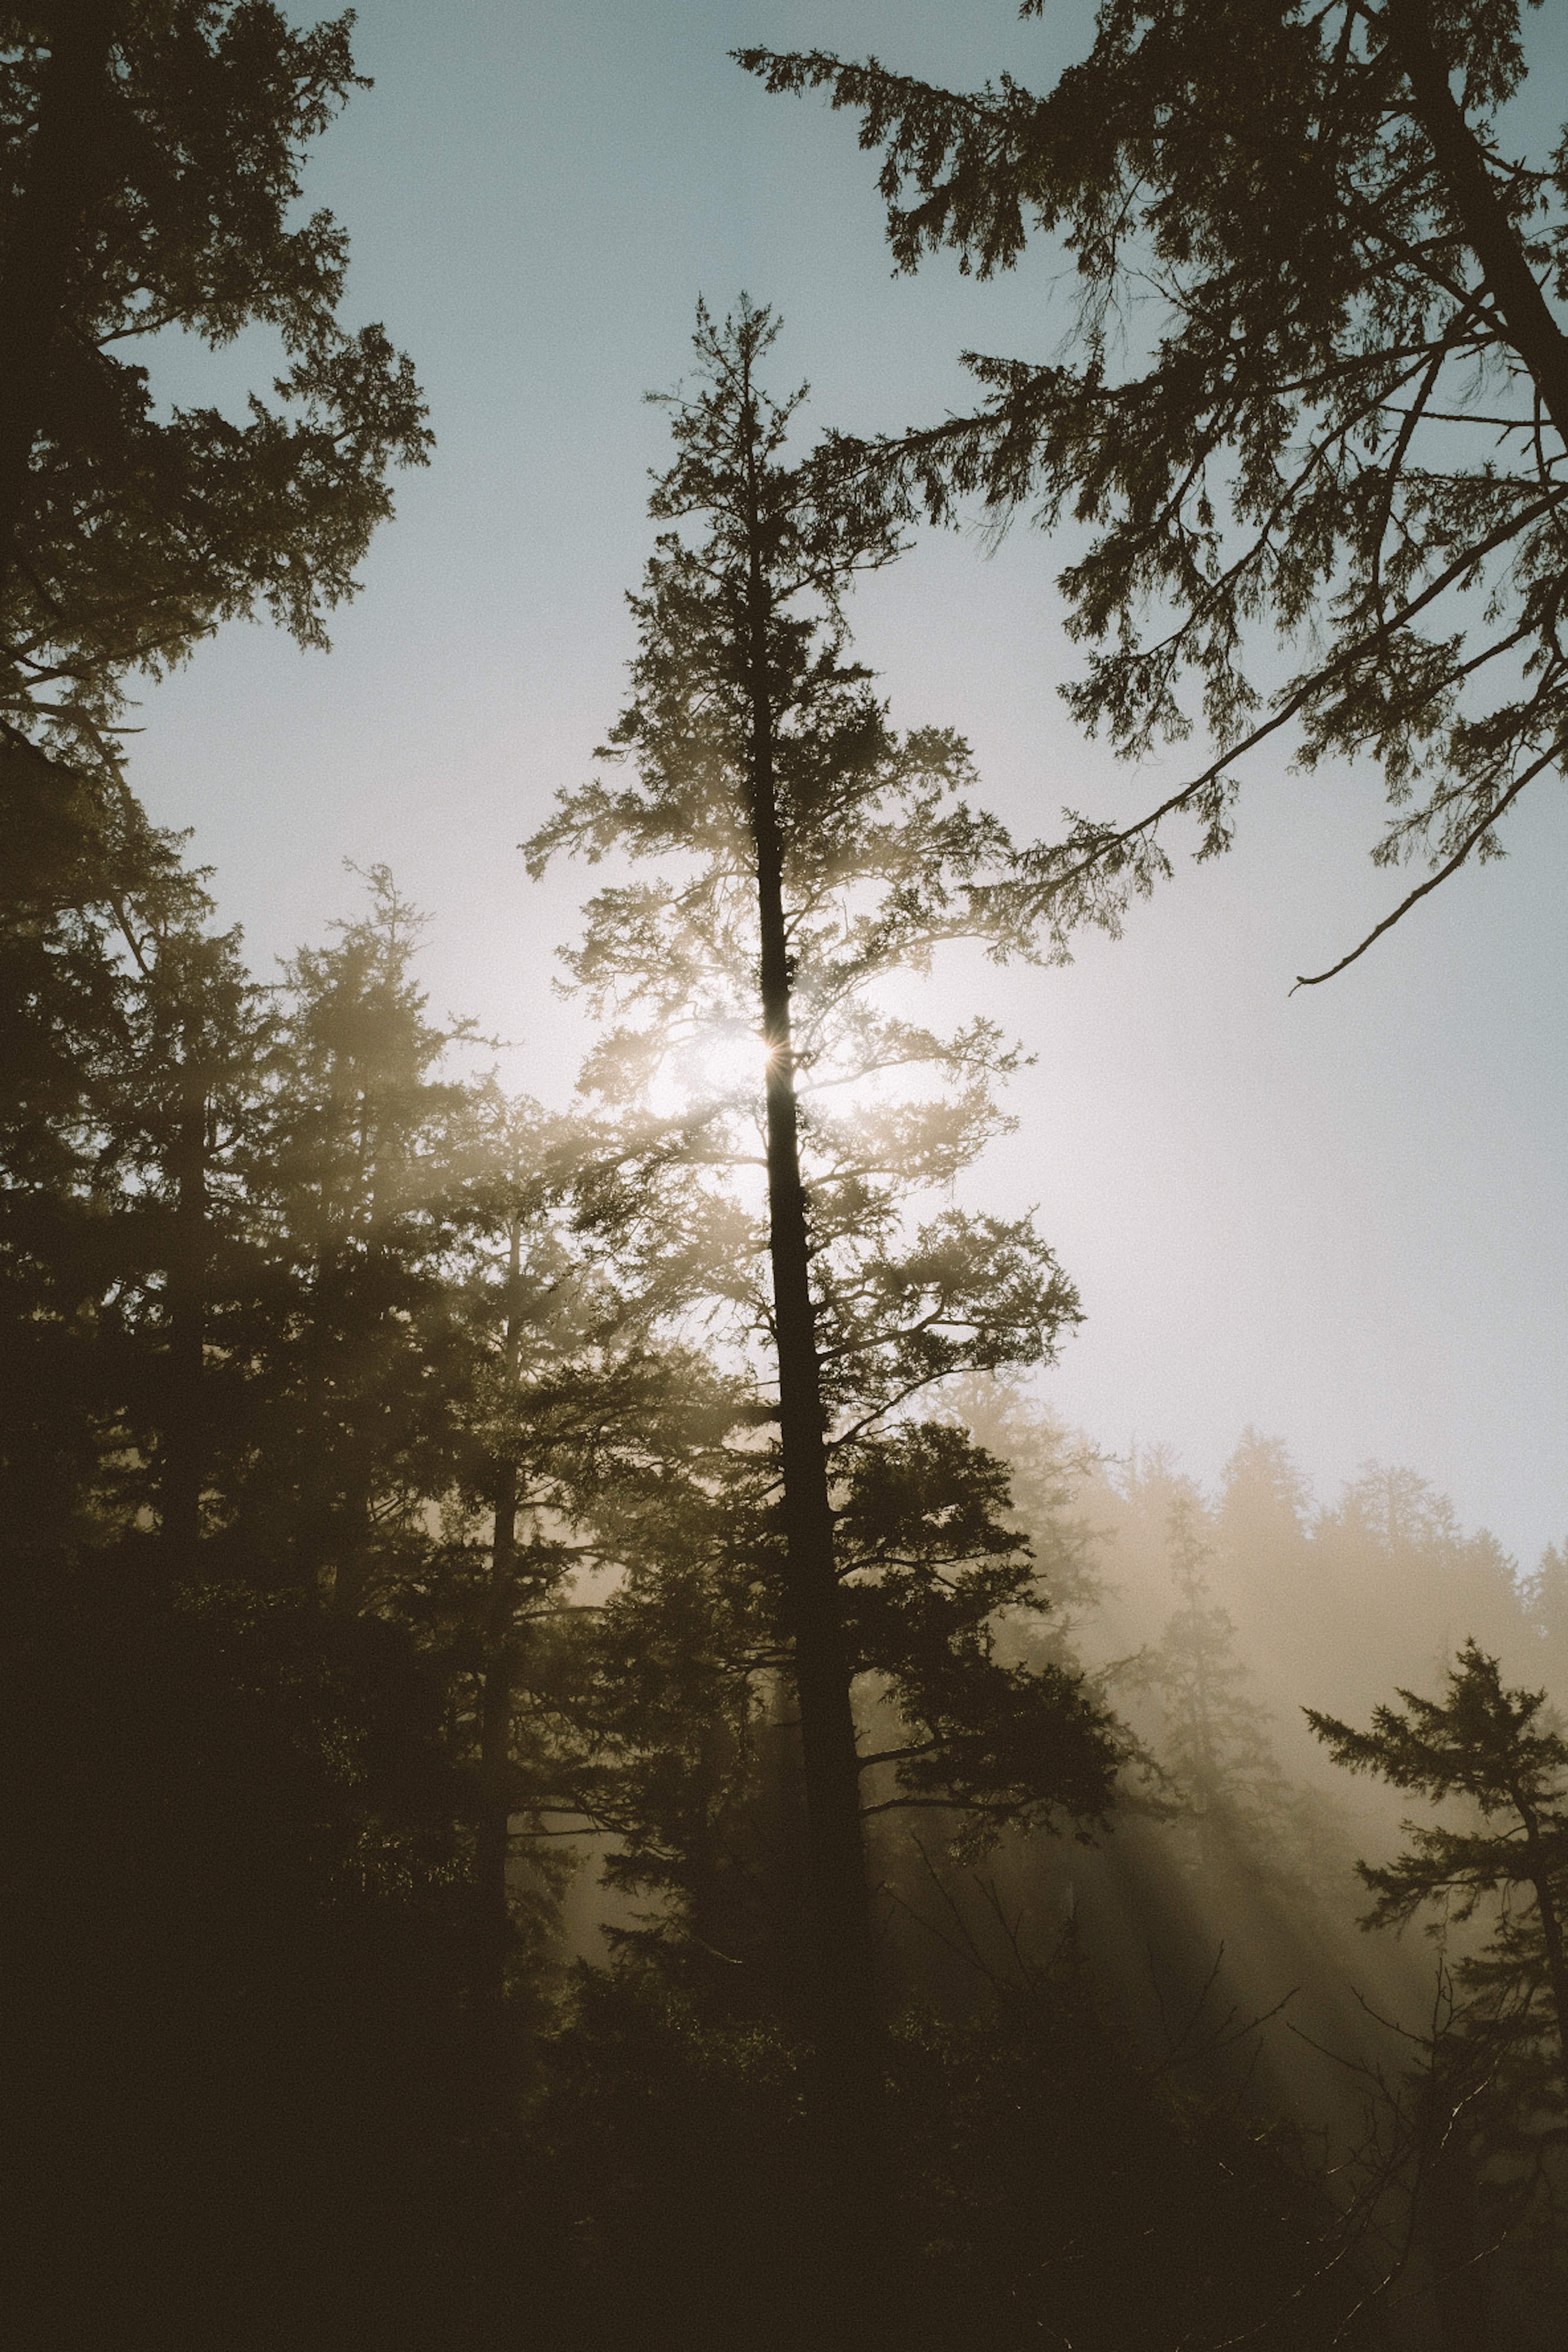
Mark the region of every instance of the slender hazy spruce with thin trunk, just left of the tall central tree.
[[494, 1080], [470, 1110], [442, 1371], [451, 1484], [433, 1496], [442, 1541], [393, 1609], [456, 1682], [473, 1738], [473, 2058], [480, 2112], [496, 2122], [515, 2079], [508, 1987], [527, 1910], [512, 1863], [527, 1856], [536, 1924], [552, 1919], [569, 1858], [552, 1860], [545, 1839], [562, 1816], [597, 1813], [597, 1609], [578, 1578], [604, 1566], [616, 1519], [651, 1543], [705, 1381], [644, 1345], [602, 1251], [569, 1230], [574, 1122], [508, 1101]]

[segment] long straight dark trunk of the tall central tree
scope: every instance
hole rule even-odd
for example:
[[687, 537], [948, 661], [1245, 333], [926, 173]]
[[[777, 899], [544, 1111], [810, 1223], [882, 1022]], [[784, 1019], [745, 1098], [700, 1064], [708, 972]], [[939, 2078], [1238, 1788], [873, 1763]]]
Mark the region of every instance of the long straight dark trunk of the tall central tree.
[[773, 783], [769, 696], [769, 590], [757, 524], [755, 447], [750, 480], [750, 793], [762, 920], [762, 1037], [766, 1049], [769, 1258], [778, 1341], [778, 1425], [783, 1444], [788, 1618], [799, 1689], [802, 1776], [811, 1912], [818, 1964], [818, 2070], [832, 2138], [853, 2152], [879, 2098], [879, 2034], [860, 1764], [849, 1703], [849, 1651], [832, 1557], [832, 1505], [823, 1388], [811, 1305], [806, 1197], [799, 1174], [790, 953], [783, 917], [783, 842]]

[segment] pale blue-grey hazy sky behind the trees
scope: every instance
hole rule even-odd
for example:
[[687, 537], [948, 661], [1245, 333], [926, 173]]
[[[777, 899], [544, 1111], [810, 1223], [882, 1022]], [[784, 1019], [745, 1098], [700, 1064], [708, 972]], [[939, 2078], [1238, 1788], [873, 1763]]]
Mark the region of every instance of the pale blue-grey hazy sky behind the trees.
[[[334, 652], [228, 630], [146, 696], [134, 753], [261, 967], [353, 908], [343, 858], [386, 858], [435, 917], [435, 1007], [520, 1040], [512, 1082], [567, 1098], [581, 1033], [548, 983], [588, 884], [529, 884], [515, 844], [623, 696], [668, 449], [639, 395], [682, 374], [698, 292], [780, 308], [780, 386], [809, 376], [811, 419], [853, 430], [961, 405], [966, 346], [1046, 358], [1060, 334], [1044, 254], [992, 287], [893, 280], [853, 120], [764, 96], [726, 49], [1039, 82], [1086, 24], [1070, 5], [1020, 26], [1011, 0], [362, 0], [376, 87], [320, 143], [308, 200], [348, 226], [348, 318], [414, 353], [440, 447]], [[261, 341], [176, 355], [162, 383], [235, 400], [247, 372], [270, 372]], [[893, 717], [959, 727], [1025, 837], [1185, 774], [1074, 734], [1060, 560], [1027, 529], [990, 560], [926, 536], [856, 607]], [[1284, 755], [1248, 776], [1232, 856], [1178, 866], [1121, 943], [976, 971], [1037, 1054], [987, 1192], [1039, 1204], [1088, 1310], [1044, 1392], [1105, 1446], [1171, 1439], [1204, 1479], [1248, 1421], [1321, 1494], [1366, 1456], [1410, 1463], [1530, 1566], [1568, 1534], [1561, 786], [1509, 818], [1505, 863], [1291, 997], [1396, 894], [1366, 854], [1380, 786]]]

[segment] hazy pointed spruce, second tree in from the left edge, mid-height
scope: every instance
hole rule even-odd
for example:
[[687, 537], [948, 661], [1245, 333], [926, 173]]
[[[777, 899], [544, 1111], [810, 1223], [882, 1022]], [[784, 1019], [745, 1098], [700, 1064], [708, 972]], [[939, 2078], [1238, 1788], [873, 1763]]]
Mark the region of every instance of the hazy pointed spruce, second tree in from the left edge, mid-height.
[[458, 1028], [428, 1018], [423, 915], [386, 866], [369, 906], [284, 971], [268, 1122], [252, 1160], [261, 1265], [244, 1522], [256, 1566], [355, 1616], [430, 1548], [451, 1482], [444, 1369], [465, 1221]]

